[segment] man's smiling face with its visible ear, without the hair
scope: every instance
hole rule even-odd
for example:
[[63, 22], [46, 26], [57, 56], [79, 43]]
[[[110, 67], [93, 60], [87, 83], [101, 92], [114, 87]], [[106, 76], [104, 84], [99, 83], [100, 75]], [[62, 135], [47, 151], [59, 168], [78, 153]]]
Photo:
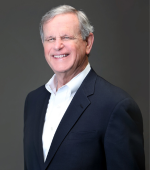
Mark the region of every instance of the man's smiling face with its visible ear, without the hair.
[[57, 15], [43, 25], [45, 58], [55, 74], [76, 75], [88, 63], [91, 46], [82, 40], [75, 14]]

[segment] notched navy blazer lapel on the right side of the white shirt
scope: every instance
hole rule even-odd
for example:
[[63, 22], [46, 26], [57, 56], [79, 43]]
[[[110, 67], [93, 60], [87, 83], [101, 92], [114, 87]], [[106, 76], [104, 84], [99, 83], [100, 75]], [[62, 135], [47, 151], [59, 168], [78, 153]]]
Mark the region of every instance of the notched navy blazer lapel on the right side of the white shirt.
[[94, 93], [96, 76], [96, 73], [91, 70], [72, 99], [54, 135], [44, 169], [51, 163], [67, 134], [78, 121], [84, 110], [90, 105], [88, 96]]

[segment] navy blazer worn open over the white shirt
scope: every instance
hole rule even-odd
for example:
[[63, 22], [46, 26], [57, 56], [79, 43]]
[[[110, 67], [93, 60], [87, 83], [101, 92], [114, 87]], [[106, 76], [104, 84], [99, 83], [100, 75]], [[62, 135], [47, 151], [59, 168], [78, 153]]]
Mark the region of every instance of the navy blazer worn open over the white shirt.
[[28, 94], [24, 170], [144, 170], [143, 124], [134, 100], [92, 69], [54, 135], [44, 162], [42, 132], [50, 93]]

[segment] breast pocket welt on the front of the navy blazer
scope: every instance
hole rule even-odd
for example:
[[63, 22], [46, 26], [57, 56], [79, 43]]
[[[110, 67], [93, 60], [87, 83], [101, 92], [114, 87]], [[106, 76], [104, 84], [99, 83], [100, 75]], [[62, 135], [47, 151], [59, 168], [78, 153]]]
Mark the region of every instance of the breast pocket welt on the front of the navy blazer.
[[98, 135], [97, 131], [90, 132], [70, 132], [68, 136], [68, 140], [87, 140], [87, 139], [95, 139]]

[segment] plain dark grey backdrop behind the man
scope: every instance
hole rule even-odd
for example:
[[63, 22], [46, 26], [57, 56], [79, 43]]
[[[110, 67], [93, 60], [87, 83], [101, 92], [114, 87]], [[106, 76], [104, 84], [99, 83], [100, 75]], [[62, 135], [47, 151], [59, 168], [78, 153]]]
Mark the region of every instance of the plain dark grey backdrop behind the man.
[[1, 0], [0, 169], [23, 170], [23, 108], [27, 93], [53, 72], [44, 59], [39, 22], [49, 9], [70, 4], [85, 11], [95, 28], [90, 55], [94, 70], [127, 91], [144, 121], [149, 162], [148, 1]]

